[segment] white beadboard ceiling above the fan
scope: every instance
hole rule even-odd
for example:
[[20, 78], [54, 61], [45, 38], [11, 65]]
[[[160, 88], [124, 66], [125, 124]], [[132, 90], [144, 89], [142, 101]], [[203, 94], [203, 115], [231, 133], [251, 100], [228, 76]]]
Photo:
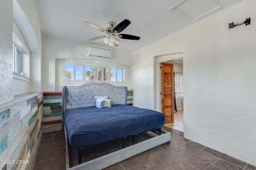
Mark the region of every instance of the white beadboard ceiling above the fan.
[[140, 40], [120, 39], [120, 44], [114, 49], [134, 51], [243, 0], [33, 1], [42, 35], [110, 47], [103, 42], [103, 39], [87, 41], [87, 39], [106, 34], [84, 22], [87, 21], [105, 29], [109, 21], [114, 21], [117, 25], [124, 19], [128, 19], [131, 23], [121, 33], [139, 36]]

